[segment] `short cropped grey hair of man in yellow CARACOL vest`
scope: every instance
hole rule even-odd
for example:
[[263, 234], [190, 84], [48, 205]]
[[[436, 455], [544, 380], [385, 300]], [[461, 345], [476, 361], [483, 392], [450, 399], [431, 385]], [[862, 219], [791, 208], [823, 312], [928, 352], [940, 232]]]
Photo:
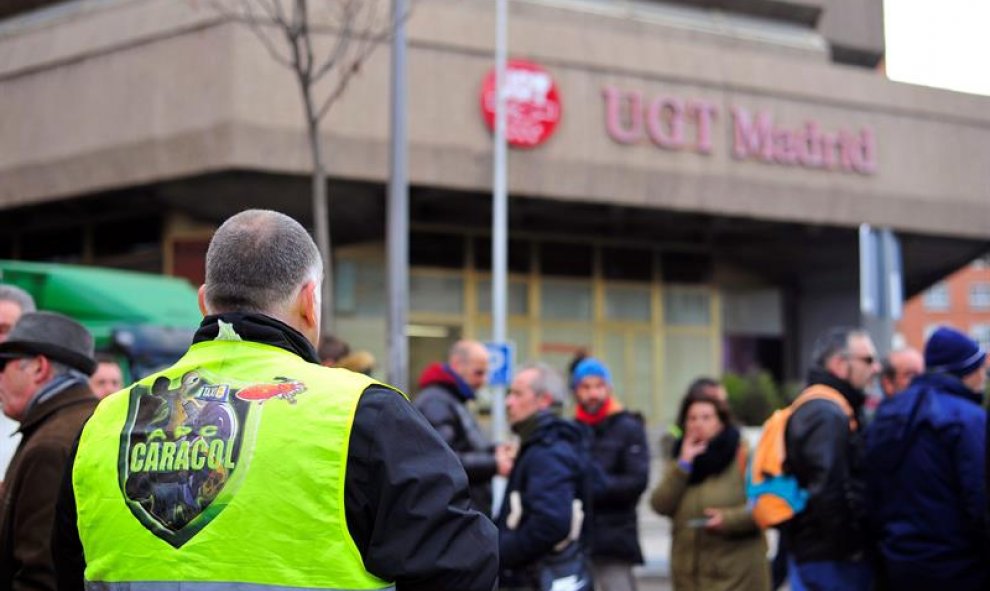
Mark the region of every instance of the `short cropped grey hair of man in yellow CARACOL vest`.
[[211, 312], [277, 312], [308, 279], [319, 282], [323, 260], [306, 229], [266, 209], [225, 221], [206, 251], [206, 304]]

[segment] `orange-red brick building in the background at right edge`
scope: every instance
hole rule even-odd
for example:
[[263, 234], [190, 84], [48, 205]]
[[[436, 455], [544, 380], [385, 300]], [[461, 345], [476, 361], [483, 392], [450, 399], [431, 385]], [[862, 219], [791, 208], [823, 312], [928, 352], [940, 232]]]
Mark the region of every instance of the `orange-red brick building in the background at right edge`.
[[939, 326], [961, 330], [990, 348], [990, 254], [908, 300], [898, 333], [905, 344], [921, 349]]

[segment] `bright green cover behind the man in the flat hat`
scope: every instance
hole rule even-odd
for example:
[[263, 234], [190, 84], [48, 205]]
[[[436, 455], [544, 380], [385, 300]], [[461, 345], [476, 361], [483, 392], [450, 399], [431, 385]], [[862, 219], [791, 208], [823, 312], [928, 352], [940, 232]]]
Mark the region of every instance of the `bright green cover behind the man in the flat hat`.
[[0, 283], [30, 293], [39, 310], [61, 312], [86, 326], [105, 347], [115, 327], [195, 328], [202, 315], [184, 279], [55, 263], [0, 260]]

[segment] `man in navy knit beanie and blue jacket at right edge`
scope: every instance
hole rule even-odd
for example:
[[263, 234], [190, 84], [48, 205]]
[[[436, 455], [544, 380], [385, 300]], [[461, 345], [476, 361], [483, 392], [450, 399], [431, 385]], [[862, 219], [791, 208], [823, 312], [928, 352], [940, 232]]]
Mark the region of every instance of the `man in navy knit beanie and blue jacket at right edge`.
[[867, 503], [889, 588], [985, 590], [986, 351], [939, 328], [927, 372], [880, 405], [866, 433]]

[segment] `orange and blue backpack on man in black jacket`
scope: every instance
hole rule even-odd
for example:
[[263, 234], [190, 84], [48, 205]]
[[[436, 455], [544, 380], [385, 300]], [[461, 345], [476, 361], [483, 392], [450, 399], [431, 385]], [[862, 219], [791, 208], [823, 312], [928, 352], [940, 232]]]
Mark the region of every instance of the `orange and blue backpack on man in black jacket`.
[[801, 392], [790, 406], [770, 415], [763, 423], [763, 433], [746, 470], [746, 498], [753, 520], [764, 529], [791, 519], [808, 503], [808, 491], [798, 485], [797, 478], [784, 472], [787, 456], [784, 434], [794, 411], [811, 400], [831, 400], [849, 417], [851, 430], [855, 431], [858, 426], [845, 397], [833, 388], [817, 384]]

